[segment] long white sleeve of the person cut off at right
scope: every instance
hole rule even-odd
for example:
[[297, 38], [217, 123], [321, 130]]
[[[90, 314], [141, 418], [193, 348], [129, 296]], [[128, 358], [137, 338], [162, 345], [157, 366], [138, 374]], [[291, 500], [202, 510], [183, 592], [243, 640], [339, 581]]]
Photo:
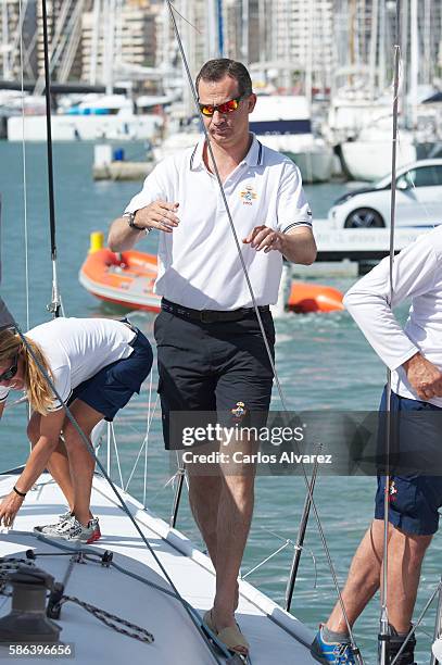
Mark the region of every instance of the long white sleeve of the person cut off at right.
[[404, 300], [413, 300], [431, 291], [439, 263], [440, 258], [431, 241], [421, 238], [394, 259], [392, 302], [389, 258], [383, 259], [345, 293], [345, 308], [376, 353], [392, 371], [419, 351], [396, 321], [393, 308]]

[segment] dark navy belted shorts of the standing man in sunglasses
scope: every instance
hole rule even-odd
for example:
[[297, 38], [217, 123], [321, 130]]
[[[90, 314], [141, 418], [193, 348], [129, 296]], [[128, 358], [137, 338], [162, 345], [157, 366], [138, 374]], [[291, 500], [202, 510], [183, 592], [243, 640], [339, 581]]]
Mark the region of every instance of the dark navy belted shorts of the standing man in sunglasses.
[[[261, 316], [274, 357], [271, 314]], [[274, 373], [254, 313], [206, 324], [162, 311], [154, 336], [166, 449], [184, 448], [182, 438], [171, 434], [171, 412], [210, 413], [223, 426], [265, 425]]]

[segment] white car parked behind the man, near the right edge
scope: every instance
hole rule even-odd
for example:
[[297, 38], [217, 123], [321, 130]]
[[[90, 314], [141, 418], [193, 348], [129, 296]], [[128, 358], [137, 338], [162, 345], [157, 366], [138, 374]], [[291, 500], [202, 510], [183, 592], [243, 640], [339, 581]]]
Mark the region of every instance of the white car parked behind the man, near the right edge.
[[[328, 218], [334, 228], [390, 226], [391, 174], [371, 187], [340, 197]], [[442, 224], [442, 159], [421, 160], [396, 172], [397, 226]]]

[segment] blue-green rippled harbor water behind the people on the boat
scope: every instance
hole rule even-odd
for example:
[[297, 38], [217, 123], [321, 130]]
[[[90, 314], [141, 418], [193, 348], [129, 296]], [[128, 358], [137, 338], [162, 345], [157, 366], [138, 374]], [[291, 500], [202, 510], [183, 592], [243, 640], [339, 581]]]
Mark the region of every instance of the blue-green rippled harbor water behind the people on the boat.
[[[126, 158], [140, 161], [143, 146], [125, 147]], [[89, 235], [106, 233], [110, 222], [140, 188], [140, 183], [94, 183], [91, 177], [93, 145], [56, 143], [54, 146], [54, 185], [56, 244], [60, 290], [66, 316], [118, 316], [121, 311], [101, 304], [78, 284], [78, 269], [87, 254]], [[25, 177], [24, 177], [25, 176]], [[24, 180], [26, 186], [24, 185]], [[0, 143], [0, 193], [2, 203], [2, 284], [1, 294], [22, 328], [47, 321], [46, 305], [51, 299], [52, 268], [48, 213], [46, 146]], [[314, 217], [324, 218], [345, 185], [327, 184], [306, 187]], [[27, 236], [28, 256], [25, 256]], [[139, 244], [155, 251], [155, 233]], [[28, 273], [28, 294], [26, 287]], [[350, 278], [320, 279], [345, 290]], [[28, 306], [27, 306], [28, 302]], [[404, 310], [400, 312], [400, 316]], [[134, 313], [131, 321], [152, 340], [154, 315]], [[333, 410], [374, 410], [377, 407], [386, 371], [374, 351], [345, 312], [331, 314], [286, 315], [276, 322], [277, 368], [286, 400], [291, 410], [332, 412]], [[126, 481], [146, 435], [149, 405], [156, 400], [155, 377], [134, 399], [116, 423], [119, 463]], [[281, 407], [275, 390], [273, 407]], [[0, 467], [12, 468], [26, 459], [26, 409], [8, 410], [0, 424]], [[142, 455], [143, 457], [144, 455]], [[159, 404], [152, 418], [148, 451], [149, 481], [147, 504], [168, 519], [173, 500], [168, 459], [164, 454]], [[114, 470], [116, 464], [114, 463]], [[117, 476], [115, 476], [117, 478]], [[376, 479], [333, 477], [317, 479], [315, 497], [338, 578], [343, 585], [355, 548], [370, 523]], [[129, 490], [143, 499], [142, 465]], [[256, 482], [256, 502], [251, 536], [242, 574], [287, 544], [278, 554], [248, 576], [248, 580], [283, 604], [287, 578], [293, 556], [305, 487], [300, 476], [262, 476]], [[187, 495], [178, 517], [182, 529], [200, 545]], [[0, 537], [1, 538], [1, 537]], [[1, 555], [1, 540], [0, 540]], [[416, 616], [438, 584], [441, 575], [441, 540], [427, 554], [416, 606]], [[394, 599], [395, 589], [390, 589]], [[314, 517], [308, 525], [292, 612], [315, 629], [327, 618], [336, 592]], [[434, 608], [418, 630], [418, 662], [429, 661]], [[367, 663], [376, 662], [379, 627], [379, 597], [375, 597], [355, 626], [356, 640]], [[190, 665], [190, 664], [189, 664]]]

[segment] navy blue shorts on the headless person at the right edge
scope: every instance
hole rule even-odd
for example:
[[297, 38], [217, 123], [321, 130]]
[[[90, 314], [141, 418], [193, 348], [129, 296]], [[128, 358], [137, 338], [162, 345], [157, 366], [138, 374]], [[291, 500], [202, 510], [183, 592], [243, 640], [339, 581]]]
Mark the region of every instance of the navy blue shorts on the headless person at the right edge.
[[[383, 390], [380, 411], [387, 411], [387, 389]], [[391, 393], [391, 412], [441, 411], [428, 402], [411, 400]], [[413, 423], [413, 421], [411, 421]], [[438, 438], [439, 434], [437, 432]], [[435, 439], [434, 436], [434, 439]], [[425, 437], [421, 440], [425, 447]], [[378, 478], [375, 518], [383, 519], [386, 477]], [[390, 476], [389, 522], [406, 534], [430, 536], [439, 527], [439, 509], [442, 506], [442, 476], [407, 474]]]

